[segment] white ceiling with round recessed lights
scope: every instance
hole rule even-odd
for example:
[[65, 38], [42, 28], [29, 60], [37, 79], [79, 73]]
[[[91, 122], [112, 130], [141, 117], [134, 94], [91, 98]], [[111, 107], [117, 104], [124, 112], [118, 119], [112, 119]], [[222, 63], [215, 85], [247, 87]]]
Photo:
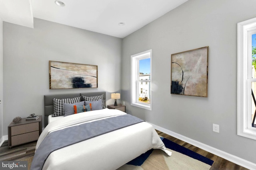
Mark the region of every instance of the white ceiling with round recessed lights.
[[[188, 0], [0, 0], [3, 21], [34, 27], [34, 18], [123, 38]], [[118, 23], [124, 23], [119, 25]]]

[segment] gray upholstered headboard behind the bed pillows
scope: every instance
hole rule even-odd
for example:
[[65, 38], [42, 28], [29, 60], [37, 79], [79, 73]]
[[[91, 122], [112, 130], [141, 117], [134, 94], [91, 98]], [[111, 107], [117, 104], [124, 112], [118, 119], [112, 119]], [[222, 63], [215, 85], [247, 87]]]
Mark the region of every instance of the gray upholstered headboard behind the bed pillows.
[[80, 96], [81, 101], [84, 99], [82, 96], [99, 96], [102, 95], [104, 99], [104, 104], [106, 106], [106, 92], [88, 92], [88, 93], [72, 93], [72, 94], [49, 94], [49, 95], [44, 95], [44, 127], [48, 125], [48, 115], [53, 114], [53, 101], [52, 99], [66, 99], [66, 98], [75, 98]]

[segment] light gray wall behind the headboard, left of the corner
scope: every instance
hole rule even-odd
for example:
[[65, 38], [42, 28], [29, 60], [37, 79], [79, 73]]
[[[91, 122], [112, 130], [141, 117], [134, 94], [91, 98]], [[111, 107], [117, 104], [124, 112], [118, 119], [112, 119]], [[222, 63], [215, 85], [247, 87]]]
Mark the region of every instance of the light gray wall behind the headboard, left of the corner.
[[[120, 92], [122, 39], [34, 19], [34, 29], [3, 23], [4, 135], [16, 116], [43, 115], [45, 94]], [[50, 61], [98, 65], [98, 88], [49, 89]]]

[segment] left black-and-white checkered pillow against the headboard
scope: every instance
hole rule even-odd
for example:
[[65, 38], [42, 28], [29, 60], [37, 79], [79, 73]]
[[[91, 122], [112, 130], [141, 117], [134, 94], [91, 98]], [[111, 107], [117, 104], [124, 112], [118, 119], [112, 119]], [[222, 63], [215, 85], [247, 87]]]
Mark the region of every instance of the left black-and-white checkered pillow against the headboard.
[[53, 115], [52, 117], [64, 115], [64, 103], [73, 104], [80, 102], [80, 96], [72, 99], [52, 99], [53, 101]]

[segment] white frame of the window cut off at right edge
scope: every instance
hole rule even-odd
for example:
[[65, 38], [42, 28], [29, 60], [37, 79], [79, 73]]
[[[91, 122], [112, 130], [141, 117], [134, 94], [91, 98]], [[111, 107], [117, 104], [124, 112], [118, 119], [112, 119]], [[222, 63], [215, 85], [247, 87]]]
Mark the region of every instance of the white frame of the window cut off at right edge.
[[[256, 33], [256, 18], [237, 24], [237, 134], [256, 140], [252, 127], [252, 34]], [[250, 51], [248, 53], [248, 51]]]

